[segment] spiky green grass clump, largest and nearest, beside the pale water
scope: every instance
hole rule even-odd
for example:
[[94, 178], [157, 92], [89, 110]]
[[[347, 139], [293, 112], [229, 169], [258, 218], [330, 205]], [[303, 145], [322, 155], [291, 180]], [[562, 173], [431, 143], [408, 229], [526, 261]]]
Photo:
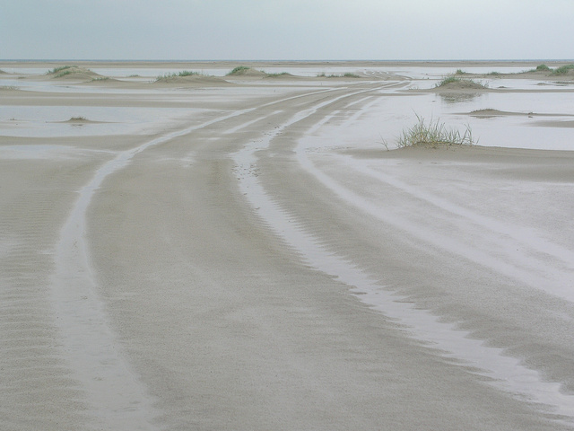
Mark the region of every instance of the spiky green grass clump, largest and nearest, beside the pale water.
[[405, 148], [407, 146], [438, 148], [439, 146], [450, 145], [474, 145], [473, 133], [470, 126], [466, 126], [465, 132], [457, 128], [447, 128], [439, 120], [427, 124], [419, 115], [416, 116], [418, 123], [412, 128], [403, 130], [398, 137], [397, 146]]

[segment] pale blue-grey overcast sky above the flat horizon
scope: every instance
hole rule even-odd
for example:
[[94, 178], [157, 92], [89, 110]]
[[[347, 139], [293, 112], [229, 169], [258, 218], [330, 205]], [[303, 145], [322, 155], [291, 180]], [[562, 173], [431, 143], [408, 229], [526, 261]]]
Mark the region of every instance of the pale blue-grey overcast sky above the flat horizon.
[[571, 59], [574, 0], [0, 0], [4, 59]]

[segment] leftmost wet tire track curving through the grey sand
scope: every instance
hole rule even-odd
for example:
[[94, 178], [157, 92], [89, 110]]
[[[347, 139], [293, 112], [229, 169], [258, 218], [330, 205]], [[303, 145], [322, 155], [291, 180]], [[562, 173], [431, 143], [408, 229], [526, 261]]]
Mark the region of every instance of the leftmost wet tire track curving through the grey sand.
[[[369, 90], [363, 90], [365, 92]], [[343, 92], [343, 96], [336, 94]], [[85, 240], [86, 212], [91, 199], [109, 175], [126, 168], [136, 154], [180, 136], [187, 136], [239, 116], [280, 107], [284, 102], [319, 99], [319, 105], [347, 97], [346, 88], [334, 88], [296, 94], [278, 101], [234, 111], [199, 125], [158, 136], [130, 150], [117, 154], [94, 173], [92, 179], [78, 190], [78, 198], [59, 235], [55, 251], [55, 272], [51, 277], [52, 303], [56, 311], [57, 329], [62, 335], [65, 356], [76, 381], [86, 394], [88, 414], [95, 427], [101, 429], [157, 429], [155, 400], [132, 371], [125, 353], [117, 343], [117, 335], [109, 324], [106, 306], [98, 295], [96, 274], [91, 268], [90, 251]], [[360, 92], [355, 92], [360, 93]], [[335, 96], [333, 95], [335, 94]], [[265, 112], [257, 120], [276, 115], [279, 110]], [[302, 118], [302, 117], [301, 117]], [[254, 121], [245, 121], [230, 128], [237, 131]]]

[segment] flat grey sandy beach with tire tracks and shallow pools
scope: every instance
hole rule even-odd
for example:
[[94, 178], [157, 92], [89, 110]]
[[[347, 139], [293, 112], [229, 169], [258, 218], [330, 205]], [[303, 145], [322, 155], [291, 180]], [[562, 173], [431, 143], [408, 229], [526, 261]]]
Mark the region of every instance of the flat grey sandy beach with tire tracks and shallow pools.
[[0, 62], [0, 428], [574, 427], [574, 71], [73, 64]]

